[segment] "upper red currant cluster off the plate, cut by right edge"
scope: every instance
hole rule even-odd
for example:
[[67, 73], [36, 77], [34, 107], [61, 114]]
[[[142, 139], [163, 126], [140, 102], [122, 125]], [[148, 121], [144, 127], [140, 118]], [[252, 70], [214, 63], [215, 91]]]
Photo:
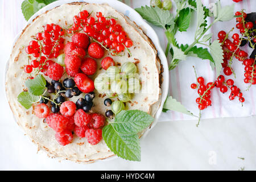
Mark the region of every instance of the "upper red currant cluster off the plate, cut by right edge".
[[[232, 75], [234, 73], [231, 65], [233, 57], [236, 57], [239, 61], [242, 61], [243, 65], [245, 65], [245, 83], [250, 83], [251, 85], [256, 84], [256, 65], [255, 65], [255, 59], [250, 58], [248, 59], [247, 52], [240, 49], [240, 47], [245, 46], [247, 42], [249, 42], [249, 47], [255, 48], [256, 43], [256, 31], [253, 28], [254, 23], [247, 21], [246, 17], [247, 14], [243, 11], [237, 11], [236, 12], [236, 18], [237, 24], [236, 27], [240, 30], [242, 36], [240, 38], [240, 35], [233, 34], [231, 40], [228, 39], [228, 34], [226, 34], [225, 31], [218, 32], [218, 40], [220, 43], [222, 43], [222, 47], [224, 49], [224, 63], [222, 63], [222, 67], [224, 68], [224, 74], [225, 75]], [[256, 23], [256, 22], [255, 22]]]

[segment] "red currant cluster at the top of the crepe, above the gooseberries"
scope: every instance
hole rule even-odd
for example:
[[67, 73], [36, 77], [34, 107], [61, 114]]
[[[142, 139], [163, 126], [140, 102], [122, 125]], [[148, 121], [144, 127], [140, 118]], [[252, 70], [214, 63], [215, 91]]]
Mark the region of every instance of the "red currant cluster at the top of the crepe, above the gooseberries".
[[100, 43], [106, 49], [112, 49], [112, 55], [122, 52], [125, 48], [133, 46], [133, 42], [127, 37], [120, 24], [117, 24], [116, 18], [104, 17], [101, 12], [97, 12], [97, 19], [90, 16], [88, 11], [81, 11], [73, 17], [74, 24], [68, 32], [80, 31], [82, 28], [90, 38]]

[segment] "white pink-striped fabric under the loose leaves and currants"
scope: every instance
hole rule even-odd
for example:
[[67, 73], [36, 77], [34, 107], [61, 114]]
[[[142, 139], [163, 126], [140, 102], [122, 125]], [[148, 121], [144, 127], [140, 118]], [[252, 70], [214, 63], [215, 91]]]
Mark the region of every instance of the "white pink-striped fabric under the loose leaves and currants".
[[[108, 1], [106, 1], [108, 2]], [[127, 5], [136, 8], [144, 5], [149, 5], [150, 1], [140, 0], [121, 0], [121, 2], [126, 3]], [[208, 6], [209, 3], [215, 2], [215, 0], [202, 0], [204, 5]], [[11, 46], [15, 36], [22, 31], [22, 28], [26, 24], [24, 20], [22, 11], [20, 10], [22, 0], [2, 0], [0, 1], [0, 10], [1, 10], [1, 19], [0, 19], [0, 36], [1, 40], [5, 43], [1, 44], [0, 55], [7, 58], [9, 54], [6, 52], [11, 51]], [[234, 3], [232, 0], [221, 1], [223, 5], [230, 5]], [[256, 1], [255, 0], [243, 0], [240, 3], [236, 3], [236, 11], [245, 9], [246, 13], [251, 11], [256, 11]], [[175, 13], [175, 12], [174, 12]], [[212, 22], [213, 19], [209, 18], [209, 22]], [[195, 20], [192, 20], [195, 23]], [[210, 28], [209, 32], [213, 33], [213, 40], [217, 39], [217, 33], [220, 30], [229, 31], [236, 24], [235, 20], [230, 22], [220, 22], [215, 24]], [[166, 49], [167, 39], [162, 28], [152, 26], [159, 36], [159, 40], [162, 48]], [[195, 25], [192, 25], [195, 29]], [[176, 38], [179, 43], [192, 43], [193, 28], [189, 28], [189, 32], [177, 32]], [[234, 32], [236, 32], [235, 30]], [[250, 52], [250, 48], [242, 48]], [[168, 60], [170, 60], [170, 56]], [[193, 73], [192, 66], [195, 65], [197, 70], [197, 75], [203, 76], [207, 82], [214, 81], [215, 74], [212, 71], [212, 68], [209, 65], [209, 61], [202, 61], [194, 57], [189, 57], [186, 61], [181, 61], [179, 66], [174, 70], [170, 71], [170, 90], [169, 94], [180, 101], [183, 105], [187, 107], [188, 110], [191, 110], [192, 113], [198, 114], [199, 110], [197, 109], [197, 104], [195, 102], [197, 93], [195, 90], [190, 89], [192, 82], [195, 82], [195, 74]], [[246, 84], [243, 84], [243, 66], [240, 61], [234, 60], [233, 68], [237, 73], [237, 78], [234, 79], [233, 76], [228, 78], [233, 78], [236, 85], [241, 88], [241, 90], [246, 90]], [[213, 105], [208, 107], [208, 109], [203, 111], [203, 118], [218, 118], [218, 117], [245, 117], [255, 114], [255, 86], [251, 86], [250, 91], [243, 91], [243, 95], [246, 99], [245, 104], [241, 107], [240, 102], [237, 100], [229, 101], [229, 93], [221, 94], [217, 89], [212, 92], [212, 102]], [[179, 121], [184, 119], [195, 119], [189, 117], [188, 115], [176, 113], [174, 111], [168, 111], [163, 113], [160, 121]]]

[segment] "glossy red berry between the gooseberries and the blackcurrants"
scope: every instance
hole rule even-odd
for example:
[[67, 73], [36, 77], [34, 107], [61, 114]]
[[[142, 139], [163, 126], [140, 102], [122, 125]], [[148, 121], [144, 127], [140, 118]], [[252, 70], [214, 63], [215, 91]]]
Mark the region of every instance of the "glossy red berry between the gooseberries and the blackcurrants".
[[93, 92], [93, 90], [95, 89], [94, 82], [84, 73], [76, 74], [74, 80], [79, 90], [81, 90], [84, 93]]

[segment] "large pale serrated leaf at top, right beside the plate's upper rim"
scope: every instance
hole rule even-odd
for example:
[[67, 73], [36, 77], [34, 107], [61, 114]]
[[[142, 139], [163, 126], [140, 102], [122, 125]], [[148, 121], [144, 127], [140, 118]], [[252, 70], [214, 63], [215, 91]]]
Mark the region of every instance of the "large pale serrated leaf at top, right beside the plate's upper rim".
[[145, 6], [135, 9], [143, 19], [154, 24], [155, 26], [166, 28], [166, 25], [174, 23], [174, 17], [170, 11], [160, 9], [158, 6]]

